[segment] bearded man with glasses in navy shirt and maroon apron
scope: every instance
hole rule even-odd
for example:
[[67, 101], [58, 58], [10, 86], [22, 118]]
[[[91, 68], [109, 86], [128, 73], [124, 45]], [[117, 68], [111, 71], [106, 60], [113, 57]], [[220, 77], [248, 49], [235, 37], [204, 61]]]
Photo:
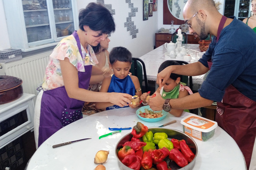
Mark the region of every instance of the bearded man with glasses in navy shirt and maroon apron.
[[195, 37], [215, 37], [198, 62], [172, 65], [158, 73], [159, 87], [164, 86], [171, 73], [193, 76], [211, 71], [197, 93], [166, 101], [156, 92], [156, 97], [149, 98], [147, 103], [154, 111], [170, 112], [218, 101], [215, 121], [234, 138], [247, 168], [255, 169], [256, 34], [235, 17], [226, 18], [219, 13], [213, 0], [188, 0], [183, 17]]

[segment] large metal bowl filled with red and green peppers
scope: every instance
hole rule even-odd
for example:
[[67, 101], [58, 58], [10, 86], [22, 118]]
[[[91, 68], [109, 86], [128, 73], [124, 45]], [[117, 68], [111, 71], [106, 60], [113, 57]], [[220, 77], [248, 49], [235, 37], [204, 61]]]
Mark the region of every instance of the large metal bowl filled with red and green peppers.
[[[143, 126], [140, 123], [139, 127], [143, 128]], [[198, 149], [196, 142], [187, 134], [173, 129], [147, 128], [147, 126], [144, 126], [144, 129], [140, 130], [141, 132], [147, 132], [142, 135], [143, 133], [135, 133], [134, 127], [131, 133], [118, 141], [115, 148], [118, 166], [121, 170], [193, 169]], [[172, 142], [170, 143], [170, 141]], [[187, 154], [187, 157], [184, 154]], [[151, 158], [149, 158], [150, 156]]]

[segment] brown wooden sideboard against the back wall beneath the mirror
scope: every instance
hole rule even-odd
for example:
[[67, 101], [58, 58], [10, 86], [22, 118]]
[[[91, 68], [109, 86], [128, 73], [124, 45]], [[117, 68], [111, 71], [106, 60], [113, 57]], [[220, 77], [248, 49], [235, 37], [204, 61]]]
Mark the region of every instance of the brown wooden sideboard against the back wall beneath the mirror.
[[[196, 38], [194, 35], [187, 34], [188, 44], [198, 44], [199, 38]], [[170, 33], [156, 33], [156, 48], [162, 46], [165, 43], [170, 43], [172, 40], [172, 35]]]

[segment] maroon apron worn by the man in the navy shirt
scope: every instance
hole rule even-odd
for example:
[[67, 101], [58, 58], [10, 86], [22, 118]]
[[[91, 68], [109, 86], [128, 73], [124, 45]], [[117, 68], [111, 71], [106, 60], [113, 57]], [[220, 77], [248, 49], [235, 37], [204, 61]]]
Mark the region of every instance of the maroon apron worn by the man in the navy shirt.
[[[222, 29], [223, 25], [218, 29], [219, 34]], [[219, 35], [217, 35], [218, 40]], [[208, 65], [211, 69], [212, 62], [209, 61]], [[217, 103], [217, 112], [215, 121], [236, 141], [249, 169], [256, 137], [256, 102], [244, 96], [230, 84], [225, 90], [222, 101]]]

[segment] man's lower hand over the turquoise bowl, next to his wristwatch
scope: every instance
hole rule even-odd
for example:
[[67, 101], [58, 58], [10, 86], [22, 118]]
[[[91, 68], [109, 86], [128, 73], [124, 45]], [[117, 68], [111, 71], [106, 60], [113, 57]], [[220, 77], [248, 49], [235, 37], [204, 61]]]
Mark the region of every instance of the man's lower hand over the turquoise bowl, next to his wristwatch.
[[149, 97], [148, 100], [146, 100], [148, 105], [153, 111], [162, 111], [165, 100], [157, 91], [152, 96], [155, 97]]

